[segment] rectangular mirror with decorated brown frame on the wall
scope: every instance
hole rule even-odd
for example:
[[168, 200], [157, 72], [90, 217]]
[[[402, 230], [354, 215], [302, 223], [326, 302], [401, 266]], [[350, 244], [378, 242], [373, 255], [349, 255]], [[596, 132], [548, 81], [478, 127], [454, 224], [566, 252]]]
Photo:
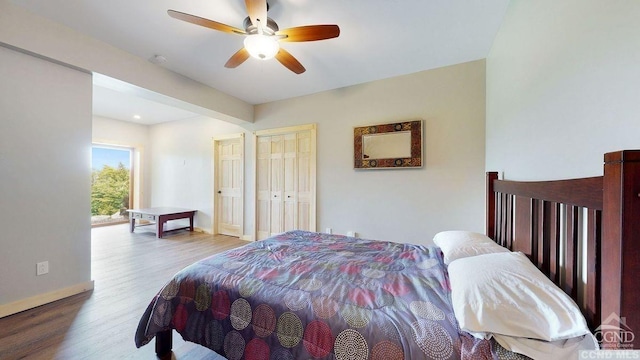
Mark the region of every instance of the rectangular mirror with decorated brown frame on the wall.
[[422, 167], [422, 120], [357, 127], [354, 167]]

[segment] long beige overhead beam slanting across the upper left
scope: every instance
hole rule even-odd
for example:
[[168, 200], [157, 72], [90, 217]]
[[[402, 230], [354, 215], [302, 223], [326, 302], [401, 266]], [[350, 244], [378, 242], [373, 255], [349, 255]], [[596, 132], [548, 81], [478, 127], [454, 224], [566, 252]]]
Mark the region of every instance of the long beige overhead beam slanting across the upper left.
[[253, 121], [251, 104], [35, 15], [10, 0], [0, 0], [2, 43], [133, 84], [126, 90], [155, 101], [179, 103], [226, 121]]

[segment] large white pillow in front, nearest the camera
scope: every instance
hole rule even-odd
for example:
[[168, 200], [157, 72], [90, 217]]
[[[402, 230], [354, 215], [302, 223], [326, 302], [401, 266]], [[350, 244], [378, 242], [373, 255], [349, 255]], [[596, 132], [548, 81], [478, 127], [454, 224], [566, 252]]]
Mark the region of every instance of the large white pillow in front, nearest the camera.
[[589, 334], [575, 302], [520, 252], [458, 259], [448, 270], [454, 313], [474, 336], [556, 341]]

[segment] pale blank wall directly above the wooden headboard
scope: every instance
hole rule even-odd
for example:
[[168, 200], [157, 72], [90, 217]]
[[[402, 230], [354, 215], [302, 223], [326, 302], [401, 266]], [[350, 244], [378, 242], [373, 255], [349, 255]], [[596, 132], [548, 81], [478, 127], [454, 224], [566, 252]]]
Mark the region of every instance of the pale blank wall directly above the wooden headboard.
[[512, 1], [487, 58], [487, 169], [596, 176], [640, 148], [638, 19], [636, 0]]

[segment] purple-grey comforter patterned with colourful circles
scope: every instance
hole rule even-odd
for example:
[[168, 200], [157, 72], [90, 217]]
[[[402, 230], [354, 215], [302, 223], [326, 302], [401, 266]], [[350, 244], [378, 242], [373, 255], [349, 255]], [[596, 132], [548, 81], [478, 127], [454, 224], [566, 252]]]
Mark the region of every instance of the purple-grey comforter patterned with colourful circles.
[[135, 341], [175, 329], [229, 360], [493, 358], [449, 294], [437, 248], [292, 231], [177, 273]]

